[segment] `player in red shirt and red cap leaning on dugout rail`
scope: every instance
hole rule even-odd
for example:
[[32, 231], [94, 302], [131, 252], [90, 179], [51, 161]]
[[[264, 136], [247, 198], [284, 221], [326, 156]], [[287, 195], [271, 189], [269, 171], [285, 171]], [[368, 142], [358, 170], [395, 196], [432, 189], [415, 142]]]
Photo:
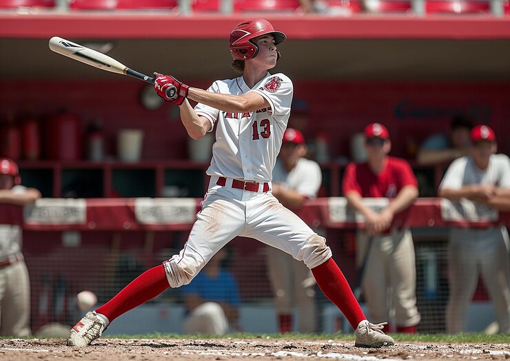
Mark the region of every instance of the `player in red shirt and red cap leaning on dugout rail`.
[[[356, 234], [363, 294], [376, 322], [389, 319], [390, 308], [394, 308], [396, 331], [415, 333], [420, 313], [416, 309], [413, 238], [409, 228], [392, 227], [392, 222], [394, 215], [407, 209], [418, 196], [416, 177], [407, 161], [388, 156], [391, 141], [384, 125], [367, 125], [365, 139], [367, 162], [350, 163], [343, 178], [349, 205], [365, 216], [365, 228]], [[363, 202], [365, 197], [389, 198], [389, 205], [377, 213]]]

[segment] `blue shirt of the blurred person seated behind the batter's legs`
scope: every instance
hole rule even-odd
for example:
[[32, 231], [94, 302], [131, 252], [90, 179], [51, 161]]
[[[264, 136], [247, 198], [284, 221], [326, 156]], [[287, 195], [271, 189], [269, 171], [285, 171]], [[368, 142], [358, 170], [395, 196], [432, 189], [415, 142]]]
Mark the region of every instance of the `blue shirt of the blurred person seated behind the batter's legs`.
[[225, 302], [234, 307], [241, 303], [234, 276], [223, 270], [216, 278], [209, 278], [205, 271], [202, 271], [189, 285], [182, 287], [181, 291], [183, 296], [196, 295], [206, 301]]

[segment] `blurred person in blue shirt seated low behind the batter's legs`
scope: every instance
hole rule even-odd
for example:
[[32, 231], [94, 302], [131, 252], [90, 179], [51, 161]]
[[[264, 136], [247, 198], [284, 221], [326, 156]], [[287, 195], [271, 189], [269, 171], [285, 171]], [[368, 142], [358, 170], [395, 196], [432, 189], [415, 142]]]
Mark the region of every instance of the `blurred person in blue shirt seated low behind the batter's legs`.
[[229, 331], [240, 331], [238, 307], [241, 301], [236, 279], [223, 269], [227, 251], [222, 248], [207, 263], [192, 282], [183, 287], [187, 310], [183, 331], [225, 335]]

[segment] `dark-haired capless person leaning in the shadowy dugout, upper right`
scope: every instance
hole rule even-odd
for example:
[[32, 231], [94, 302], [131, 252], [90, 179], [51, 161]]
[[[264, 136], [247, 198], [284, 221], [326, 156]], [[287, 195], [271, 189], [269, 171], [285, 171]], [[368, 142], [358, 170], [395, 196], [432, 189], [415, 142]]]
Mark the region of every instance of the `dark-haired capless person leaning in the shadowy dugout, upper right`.
[[469, 132], [473, 122], [467, 116], [454, 116], [449, 134], [433, 134], [418, 149], [416, 162], [419, 165], [449, 163], [469, 152]]

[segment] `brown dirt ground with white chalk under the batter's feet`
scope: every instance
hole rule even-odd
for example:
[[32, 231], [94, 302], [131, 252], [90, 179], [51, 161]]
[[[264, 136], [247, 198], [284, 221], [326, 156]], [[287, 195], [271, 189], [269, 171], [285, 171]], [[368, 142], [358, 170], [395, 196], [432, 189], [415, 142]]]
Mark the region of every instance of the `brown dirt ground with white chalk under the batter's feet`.
[[398, 343], [359, 349], [354, 342], [269, 338], [190, 340], [101, 338], [91, 346], [63, 339], [0, 340], [0, 360], [510, 360], [510, 344]]

